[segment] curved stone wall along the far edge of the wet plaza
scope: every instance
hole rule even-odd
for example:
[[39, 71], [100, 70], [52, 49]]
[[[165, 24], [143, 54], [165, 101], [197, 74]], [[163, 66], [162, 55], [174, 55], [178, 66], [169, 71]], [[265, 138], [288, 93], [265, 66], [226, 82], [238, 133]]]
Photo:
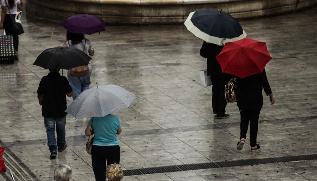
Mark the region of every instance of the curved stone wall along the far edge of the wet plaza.
[[190, 12], [223, 9], [235, 18], [262, 17], [306, 8], [317, 0], [27, 0], [28, 18], [63, 21], [90, 14], [107, 24], [183, 23]]

